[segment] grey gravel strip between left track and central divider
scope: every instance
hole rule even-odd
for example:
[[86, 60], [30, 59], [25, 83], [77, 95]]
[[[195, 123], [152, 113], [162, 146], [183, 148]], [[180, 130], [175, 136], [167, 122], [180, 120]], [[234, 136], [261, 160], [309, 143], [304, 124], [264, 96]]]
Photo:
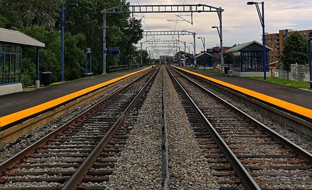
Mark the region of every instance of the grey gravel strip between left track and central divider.
[[162, 69], [106, 184], [108, 190], [161, 190]]

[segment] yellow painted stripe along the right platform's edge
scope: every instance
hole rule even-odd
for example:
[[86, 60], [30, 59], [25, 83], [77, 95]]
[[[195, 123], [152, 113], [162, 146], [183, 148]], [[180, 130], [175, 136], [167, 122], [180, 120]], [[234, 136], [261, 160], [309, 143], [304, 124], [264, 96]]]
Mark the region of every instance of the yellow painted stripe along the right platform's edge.
[[302, 107], [302, 106], [299, 106], [299, 105], [296, 105], [296, 104], [293, 104], [293, 103], [289, 103], [287, 101], [283, 101], [283, 100], [277, 99], [275, 97], [271, 97], [271, 96], [268, 96], [268, 95], [263, 95], [261, 93], [257, 93], [255, 91], [251, 91], [249, 89], [238, 87], [238, 86], [235, 86], [235, 85], [232, 85], [232, 84], [229, 84], [229, 83], [217, 80], [217, 79], [213, 79], [211, 77], [207, 77], [207, 76], [201, 75], [199, 73], [195, 73], [195, 72], [192, 72], [192, 71], [189, 71], [189, 70], [186, 70], [186, 69], [182, 69], [180, 67], [176, 67], [176, 66], [174, 66], [174, 67], [177, 68], [177, 69], [180, 69], [182, 71], [185, 71], [185, 72], [197, 75], [199, 77], [205, 78], [205, 79], [207, 79], [209, 81], [212, 81], [212, 82], [218, 83], [220, 85], [224, 85], [226, 87], [229, 87], [231, 89], [237, 90], [237, 91], [239, 91], [241, 93], [244, 93], [246, 95], [250, 95], [250, 96], [256, 97], [258, 99], [261, 99], [262, 101], [266, 101], [268, 103], [271, 103], [273, 105], [282, 107], [282, 108], [287, 109], [289, 111], [298, 113], [298, 114], [306, 116], [308, 118], [312, 118], [312, 110], [311, 109], [308, 109], [308, 108], [305, 108], [305, 107]]

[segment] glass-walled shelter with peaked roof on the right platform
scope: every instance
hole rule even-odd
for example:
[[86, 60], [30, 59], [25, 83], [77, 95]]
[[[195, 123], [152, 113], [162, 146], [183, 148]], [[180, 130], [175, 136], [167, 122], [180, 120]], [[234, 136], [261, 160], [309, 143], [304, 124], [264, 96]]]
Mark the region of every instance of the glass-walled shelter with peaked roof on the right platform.
[[[233, 76], [263, 77], [262, 44], [257, 41], [248, 42], [232, 47], [225, 51], [233, 55]], [[272, 48], [265, 46], [266, 76], [269, 71], [269, 51]]]

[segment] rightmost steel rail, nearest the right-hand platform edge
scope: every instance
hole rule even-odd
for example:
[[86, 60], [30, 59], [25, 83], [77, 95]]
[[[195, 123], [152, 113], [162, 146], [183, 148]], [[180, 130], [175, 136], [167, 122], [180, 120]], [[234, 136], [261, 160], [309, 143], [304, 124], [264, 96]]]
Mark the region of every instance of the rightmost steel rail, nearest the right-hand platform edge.
[[[175, 70], [175, 69], [173, 69]], [[175, 70], [176, 72], [180, 73], [179, 71]], [[277, 132], [275, 132], [274, 130], [270, 129], [269, 127], [265, 126], [264, 124], [262, 124], [261, 122], [259, 122], [258, 120], [256, 120], [255, 118], [251, 117], [250, 115], [248, 115], [247, 113], [243, 112], [242, 110], [238, 109], [237, 107], [235, 107], [234, 105], [230, 104], [229, 102], [225, 101], [224, 99], [222, 99], [221, 97], [219, 97], [218, 95], [213, 94], [212, 92], [208, 91], [206, 88], [204, 88], [203, 86], [201, 86], [200, 84], [196, 83], [195, 81], [191, 80], [190, 78], [188, 78], [187, 76], [183, 75], [182, 73], [180, 73], [184, 78], [186, 78], [187, 80], [189, 80], [190, 82], [192, 82], [193, 84], [195, 84], [197, 87], [199, 87], [200, 89], [202, 89], [203, 91], [205, 91], [206, 93], [214, 96], [215, 98], [217, 98], [218, 100], [224, 102], [226, 105], [228, 105], [232, 110], [236, 111], [237, 113], [239, 113], [241, 116], [245, 117], [247, 120], [249, 120], [250, 122], [252, 122], [253, 124], [255, 124], [256, 126], [260, 127], [261, 130], [263, 130], [264, 132], [266, 132], [266, 134], [268, 134], [269, 136], [273, 137], [275, 140], [277, 140], [278, 142], [281, 142], [282, 144], [284, 144], [287, 148], [291, 149], [292, 151], [295, 151], [296, 153], [298, 153], [298, 155], [305, 159], [305, 161], [312, 163], [312, 154], [310, 152], [308, 152], [307, 150], [303, 149], [302, 147], [298, 146], [297, 144], [295, 144], [294, 142], [289, 141], [288, 139], [286, 139], [285, 137], [281, 136], [280, 134], [278, 134]]]

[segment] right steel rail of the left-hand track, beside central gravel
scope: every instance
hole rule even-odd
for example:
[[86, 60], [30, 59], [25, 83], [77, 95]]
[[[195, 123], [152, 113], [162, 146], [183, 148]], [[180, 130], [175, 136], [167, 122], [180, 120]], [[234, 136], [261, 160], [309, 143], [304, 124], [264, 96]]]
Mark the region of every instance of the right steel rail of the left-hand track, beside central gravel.
[[77, 168], [75, 173], [70, 177], [70, 179], [65, 183], [65, 186], [62, 190], [76, 190], [87, 175], [90, 168], [93, 166], [94, 162], [97, 160], [99, 155], [101, 154], [103, 148], [110, 141], [111, 137], [114, 135], [115, 131], [118, 129], [119, 125], [123, 122], [123, 120], [127, 117], [133, 105], [136, 103], [137, 99], [141, 96], [141, 94], [147, 89], [150, 85], [151, 81], [155, 78], [156, 73], [159, 71], [159, 68], [154, 72], [149, 81], [144, 85], [144, 87], [140, 90], [140, 92], [134, 97], [131, 103], [127, 106], [125, 111], [120, 115], [118, 120], [112, 125], [112, 127], [108, 130], [108, 132], [104, 135], [101, 141], [97, 144], [97, 146], [92, 150], [92, 152], [88, 155], [85, 161]]

